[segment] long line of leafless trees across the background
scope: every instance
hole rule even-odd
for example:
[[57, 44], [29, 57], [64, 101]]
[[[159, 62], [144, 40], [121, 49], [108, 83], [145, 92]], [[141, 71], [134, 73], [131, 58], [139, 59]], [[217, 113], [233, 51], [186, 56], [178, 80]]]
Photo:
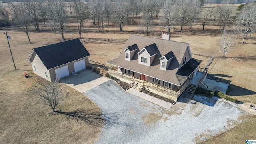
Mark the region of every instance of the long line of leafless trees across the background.
[[[12, 25], [20, 27], [28, 36], [31, 27], [40, 32], [39, 23], [50, 26], [50, 30], [59, 31], [64, 40], [67, 19], [76, 21], [77, 32], [81, 38], [81, 30], [86, 19], [98, 26], [98, 31], [104, 32], [104, 27], [110, 23], [116, 24], [120, 31], [131, 20], [136, 20], [148, 35], [158, 20], [168, 33], [176, 25], [180, 31], [184, 26], [192, 29], [193, 24], [202, 25], [202, 30], [208, 24], [236, 26], [242, 33], [243, 41], [247, 35], [256, 31], [255, 2], [242, 4], [236, 8], [231, 1], [210, 7], [204, 0], [24, 0], [24, 2], [9, 2], [8, 7], [0, 7], [0, 18]], [[30, 42], [31, 43], [31, 42]]]

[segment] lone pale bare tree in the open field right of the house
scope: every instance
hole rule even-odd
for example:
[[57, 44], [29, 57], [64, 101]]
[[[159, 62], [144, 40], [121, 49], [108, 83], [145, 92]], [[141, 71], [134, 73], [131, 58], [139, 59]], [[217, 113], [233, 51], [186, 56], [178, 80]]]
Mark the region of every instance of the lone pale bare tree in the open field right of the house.
[[234, 46], [234, 37], [236, 35], [236, 30], [227, 30], [226, 28], [221, 30], [222, 37], [220, 39], [220, 48], [225, 57], [225, 54], [230, 52]]

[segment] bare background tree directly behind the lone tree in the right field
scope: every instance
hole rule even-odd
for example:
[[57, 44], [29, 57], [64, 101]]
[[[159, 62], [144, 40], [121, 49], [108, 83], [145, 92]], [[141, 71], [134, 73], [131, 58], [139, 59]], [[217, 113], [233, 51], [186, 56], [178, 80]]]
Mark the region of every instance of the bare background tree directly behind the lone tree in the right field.
[[221, 4], [218, 6], [220, 21], [222, 22], [222, 29], [224, 30], [230, 21], [230, 18], [232, 18], [232, 14], [235, 12], [236, 8], [229, 4], [228, 1], [226, 3]]

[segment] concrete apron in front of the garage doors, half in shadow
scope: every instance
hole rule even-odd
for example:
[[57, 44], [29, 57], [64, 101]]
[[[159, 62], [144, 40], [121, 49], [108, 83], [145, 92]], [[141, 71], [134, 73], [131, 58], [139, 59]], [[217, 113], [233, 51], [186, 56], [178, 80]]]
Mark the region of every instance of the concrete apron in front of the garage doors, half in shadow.
[[79, 71], [75, 76], [71, 75], [61, 79], [62, 83], [81, 93], [99, 86], [108, 80], [110, 79], [87, 69]]

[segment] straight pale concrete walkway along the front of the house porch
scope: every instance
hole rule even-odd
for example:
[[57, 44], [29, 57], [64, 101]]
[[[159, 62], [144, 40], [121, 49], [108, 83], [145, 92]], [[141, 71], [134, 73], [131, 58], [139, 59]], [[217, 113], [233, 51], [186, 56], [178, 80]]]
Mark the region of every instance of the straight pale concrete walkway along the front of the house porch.
[[158, 98], [155, 98], [154, 96], [150, 96], [148, 94], [145, 94], [145, 93], [140, 92], [138, 90], [135, 90], [133, 88], [129, 88], [128, 90], [126, 90], [126, 92], [129, 92], [130, 94], [133, 94], [135, 96], [143, 98], [144, 100], [147, 100], [149, 102], [157, 104], [158, 106], [162, 106], [162, 107], [164, 107], [168, 110], [170, 110], [170, 108], [172, 107], [172, 104], [170, 104], [169, 102], [166, 102], [164, 100], [160, 100]]

